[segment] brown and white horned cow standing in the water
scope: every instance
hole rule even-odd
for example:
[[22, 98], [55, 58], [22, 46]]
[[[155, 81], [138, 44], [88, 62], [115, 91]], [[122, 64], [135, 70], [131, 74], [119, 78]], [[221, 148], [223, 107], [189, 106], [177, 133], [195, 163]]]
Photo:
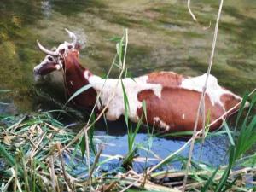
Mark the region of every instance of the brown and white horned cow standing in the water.
[[[73, 38], [73, 43], [59, 45], [55, 51], [45, 49], [38, 43], [39, 48], [47, 54], [44, 61], [34, 68], [36, 75], [45, 75], [55, 70], [63, 69], [64, 80], [69, 96], [86, 84], [91, 88], [74, 98], [80, 107], [98, 110], [108, 105], [106, 117], [108, 120], [119, 119], [125, 114], [125, 104], [122, 84], [118, 79], [102, 79], [90, 72], [79, 63], [75, 35], [67, 31]], [[197, 77], [183, 77], [173, 72], [149, 73], [134, 79], [125, 78], [122, 82], [129, 100], [129, 118], [137, 122], [143, 115], [143, 101], [146, 102], [147, 119], [149, 125], [155, 125], [159, 131], [192, 131], [195, 124], [195, 115], [199, 105], [206, 74]], [[109, 98], [115, 95], [109, 102]], [[100, 102], [96, 96], [100, 94]], [[97, 102], [97, 103], [96, 103]], [[109, 103], [108, 103], [109, 102]], [[218, 84], [218, 79], [210, 75], [205, 97], [205, 113], [210, 115], [210, 123], [233, 108], [241, 97]], [[226, 116], [234, 113], [235, 108]], [[223, 123], [219, 119], [210, 127], [216, 130]], [[202, 125], [199, 119], [198, 125]], [[198, 127], [201, 128], [201, 127]]]

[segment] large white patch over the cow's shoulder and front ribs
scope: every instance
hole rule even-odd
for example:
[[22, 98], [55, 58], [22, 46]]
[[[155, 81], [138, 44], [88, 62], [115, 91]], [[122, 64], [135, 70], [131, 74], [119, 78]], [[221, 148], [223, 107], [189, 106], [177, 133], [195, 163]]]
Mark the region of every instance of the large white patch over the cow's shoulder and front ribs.
[[[84, 77], [87, 77], [85, 73]], [[108, 104], [109, 99], [111, 99], [111, 96], [113, 96], [113, 92], [115, 91], [113, 100], [108, 104], [108, 112], [106, 113], [107, 119], [116, 120], [119, 119], [122, 114], [125, 114], [124, 94], [120, 80], [118, 82], [118, 79], [102, 79], [96, 75], [91, 75], [88, 77], [88, 80], [97, 93], [101, 93], [100, 98], [103, 106]], [[161, 96], [162, 85], [148, 84], [147, 80], [148, 76], [142, 76], [135, 79], [122, 79], [129, 101], [129, 118], [135, 122], [139, 119], [137, 108], [142, 108], [143, 106], [142, 102], [137, 99], [138, 93], [142, 90], [153, 90], [155, 96]], [[97, 103], [97, 106], [100, 108], [100, 103]]]

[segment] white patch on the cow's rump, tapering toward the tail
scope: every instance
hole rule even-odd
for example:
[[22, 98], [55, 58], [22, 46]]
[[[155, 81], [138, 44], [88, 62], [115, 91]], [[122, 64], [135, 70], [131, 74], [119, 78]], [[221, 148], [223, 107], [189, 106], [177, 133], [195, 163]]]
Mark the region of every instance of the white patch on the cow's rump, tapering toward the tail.
[[[187, 78], [187, 79], [184, 78], [182, 81], [181, 87], [187, 90], [195, 90], [198, 92], [202, 92], [203, 86], [205, 85], [206, 78], [207, 78], [206, 73], [195, 78]], [[223, 103], [220, 101], [220, 97], [223, 96], [224, 94], [229, 94], [229, 95], [235, 96], [237, 99], [241, 99], [240, 96], [236, 96], [230, 90], [224, 90], [224, 88], [222, 88], [218, 84], [218, 79], [216, 79], [211, 74], [207, 82], [206, 93], [209, 96], [213, 106], [215, 105], [215, 103], [218, 103], [220, 106], [223, 107]]]

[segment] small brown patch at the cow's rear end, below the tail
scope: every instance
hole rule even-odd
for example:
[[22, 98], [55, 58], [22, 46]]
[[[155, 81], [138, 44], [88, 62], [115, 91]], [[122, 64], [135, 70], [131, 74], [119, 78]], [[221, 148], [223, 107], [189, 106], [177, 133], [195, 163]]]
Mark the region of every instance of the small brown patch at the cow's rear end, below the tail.
[[[230, 94], [224, 94], [223, 96], [220, 96], [220, 101], [224, 104], [224, 108], [226, 111], [229, 111], [231, 108], [234, 108], [237, 103], [241, 102], [241, 99], [237, 99], [235, 96], [232, 96]], [[235, 113], [240, 108], [240, 105], [238, 105], [236, 108], [232, 109], [230, 111], [231, 113]]]

